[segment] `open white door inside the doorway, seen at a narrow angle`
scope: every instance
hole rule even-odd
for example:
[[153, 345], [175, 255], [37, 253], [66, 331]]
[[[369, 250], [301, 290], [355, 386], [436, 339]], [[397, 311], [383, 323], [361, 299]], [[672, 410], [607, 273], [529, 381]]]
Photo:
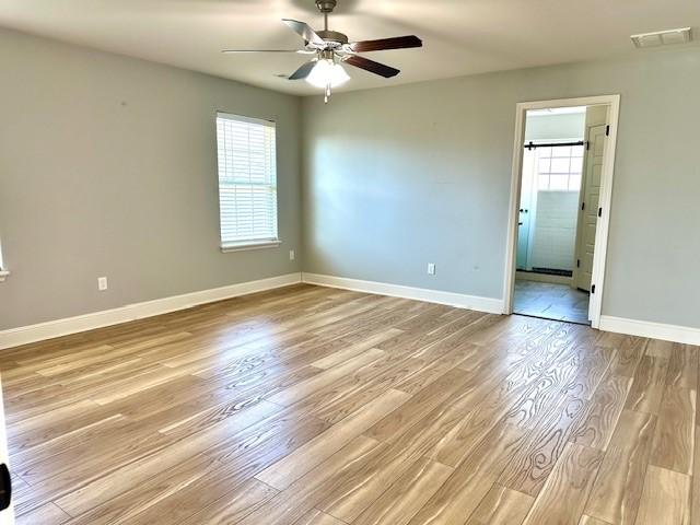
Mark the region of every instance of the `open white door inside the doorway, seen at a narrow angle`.
[[591, 291], [593, 279], [593, 249], [595, 247], [595, 230], [598, 224], [598, 201], [600, 199], [600, 175], [603, 174], [603, 155], [605, 153], [605, 131], [607, 126], [588, 128], [588, 150], [586, 152], [586, 173], [583, 182], [583, 199], [579, 228], [579, 246], [576, 249], [576, 288]]

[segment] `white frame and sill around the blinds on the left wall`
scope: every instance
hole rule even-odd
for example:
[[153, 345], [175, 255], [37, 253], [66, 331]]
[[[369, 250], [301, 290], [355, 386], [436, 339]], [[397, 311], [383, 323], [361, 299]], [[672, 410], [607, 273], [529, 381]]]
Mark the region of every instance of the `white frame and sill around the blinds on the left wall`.
[[[259, 125], [259, 126], [266, 126], [266, 127], [271, 127], [275, 130], [275, 140], [272, 143], [273, 147], [273, 156], [275, 156], [275, 171], [272, 173], [272, 184], [266, 184], [264, 186], [267, 186], [269, 188], [271, 188], [275, 198], [273, 198], [273, 206], [275, 206], [275, 223], [272, 224], [273, 226], [273, 232], [275, 232], [275, 236], [270, 236], [270, 237], [259, 237], [259, 238], [245, 238], [245, 240], [240, 240], [240, 241], [230, 241], [230, 242], [225, 242], [223, 238], [223, 217], [221, 213], [221, 168], [220, 168], [220, 158], [221, 158], [221, 152], [219, 151], [219, 119], [228, 119], [228, 120], [234, 120], [234, 121], [238, 121], [238, 122], [247, 122], [247, 124], [254, 124], [254, 125]], [[214, 137], [215, 137], [215, 142], [217, 142], [217, 195], [218, 195], [218, 199], [219, 199], [219, 247], [221, 249], [221, 252], [223, 253], [230, 253], [230, 252], [242, 252], [242, 250], [248, 250], [248, 249], [261, 249], [261, 248], [275, 248], [278, 247], [282, 241], [279, 237], [279, 195], [278, 195], [278, 170], [277, 170], [277, 165], [278, 165], [278, 153], [277, 153], [277, 121], [273, 119], [265, 119], [265, 118], [256, 118], [256, 117], [248, 117], [245, 115], [237, 115], [234, 113], [229, 113], [229, 112], [222, 112], [222, 110], [217, 110], [215, 115], [214, 115]], [[240, 183], [243, 185], [243, 183]]]

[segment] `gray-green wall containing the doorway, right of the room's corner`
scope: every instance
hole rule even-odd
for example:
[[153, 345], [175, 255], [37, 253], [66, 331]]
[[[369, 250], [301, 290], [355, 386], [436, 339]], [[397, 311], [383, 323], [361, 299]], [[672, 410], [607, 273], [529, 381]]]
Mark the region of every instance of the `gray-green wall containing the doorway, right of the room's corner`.
[[516, 102], [619, 93], [603, 313], [700, 327], [698, 85], [695, 46], [310, 97], [304, 270], [502, 298]]

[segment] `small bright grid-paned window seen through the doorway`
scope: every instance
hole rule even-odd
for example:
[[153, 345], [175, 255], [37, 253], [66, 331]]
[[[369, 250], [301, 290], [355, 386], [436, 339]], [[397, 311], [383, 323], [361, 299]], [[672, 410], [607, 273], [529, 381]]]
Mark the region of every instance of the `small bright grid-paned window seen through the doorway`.
[[537, 149], [537, 189], [579, 191], [583, 172], [583, 145]]

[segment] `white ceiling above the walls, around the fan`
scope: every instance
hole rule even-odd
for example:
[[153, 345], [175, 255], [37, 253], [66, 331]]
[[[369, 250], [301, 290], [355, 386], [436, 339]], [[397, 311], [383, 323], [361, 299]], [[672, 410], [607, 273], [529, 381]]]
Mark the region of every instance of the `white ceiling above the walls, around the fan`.
[[[280, 19], [320, 28], [313, 0], [2, 0], [0, 24], [295, 94], [301, 55], [222, 55], [295, 48]], [[355, 90], [486, 71], [591, 60], [634, 50], [629, 36], [700, 27], [700, 0], [338, 0], [330, 28], [350, 39], [416, 34], [422, 49], [368, 54], [401, 69], [385, 80], [347, 67]], [[696, 35], [697, 37], [698, 35]]]

